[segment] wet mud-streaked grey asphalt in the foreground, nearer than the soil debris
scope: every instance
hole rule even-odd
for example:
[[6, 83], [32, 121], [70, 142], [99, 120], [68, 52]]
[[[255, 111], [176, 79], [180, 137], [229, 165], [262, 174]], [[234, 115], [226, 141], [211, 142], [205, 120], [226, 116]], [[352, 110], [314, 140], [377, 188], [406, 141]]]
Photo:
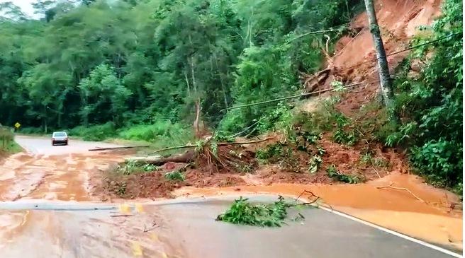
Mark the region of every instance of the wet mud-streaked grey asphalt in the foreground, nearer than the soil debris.
[[[7, 202], [0, 204], [1, 221], [14, 221], [8, 216], [15, 214], [21, 218], [15, 225], [23, 228], [0, 231], [9, 235], [8, 241], [0, 241], [0, 253], [8, 258], [452, 257], [322, 209], [299, 210], [306, 219], [289, 220], [281, 228], [215, 221], [232, 199], [129, 205], [133, 216], [118, 216], [121, 206], [111, 204]], [[269, 202], [276, 197], [251, 199]], [[291, 211], [289, 218], [295, 215]]]

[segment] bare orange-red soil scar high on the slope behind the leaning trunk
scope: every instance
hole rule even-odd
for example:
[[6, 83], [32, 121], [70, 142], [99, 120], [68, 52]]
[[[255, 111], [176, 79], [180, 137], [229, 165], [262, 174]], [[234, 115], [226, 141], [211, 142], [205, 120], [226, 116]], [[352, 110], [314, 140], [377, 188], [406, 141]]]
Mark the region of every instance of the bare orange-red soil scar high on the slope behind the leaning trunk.
[[[440, 0], [384, 0], [375, 1], [376, 15], [381, 28], [386, 54], [408, 47], [409, 40], [418, 35], [420, 25], [430, 25], [439, 15]], [[332, 57], [334, 72], [321, 88], [330, 88], [330, 82], [342, 78], [344, 83], [364, 84], [349, 90], [337, 105], [345, 115], [352, 115], [362, 105], [373, 100], [379, 91], [376, 54], [369, 31], [366, 13], [352, 21], [352, 29], [359, 30], [354, 37], [344, 36], [336, 44], [336, 54]], [[388, 57], [391, 71], [402, 61], [408, 52]], [[323, 93], [330, 95], [330, 93]]]

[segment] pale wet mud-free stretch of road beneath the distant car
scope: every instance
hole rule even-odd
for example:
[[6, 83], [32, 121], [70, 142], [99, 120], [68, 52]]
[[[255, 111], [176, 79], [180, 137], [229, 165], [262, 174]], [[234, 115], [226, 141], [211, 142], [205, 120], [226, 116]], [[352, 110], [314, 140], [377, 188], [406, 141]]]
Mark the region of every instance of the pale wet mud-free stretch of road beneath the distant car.
[[15, 141], [26, 151], [33, 154], [43, 155], [62, 155], [69, 153], [86, 153], [89, 148], [106, 148], [117, 147], [116, 144], [103, 143], [98, 141], [80, 141], [69, 139], [68, 145], [52, 146], [52, 138], [33, 137], [33, 136], [15, 136]]

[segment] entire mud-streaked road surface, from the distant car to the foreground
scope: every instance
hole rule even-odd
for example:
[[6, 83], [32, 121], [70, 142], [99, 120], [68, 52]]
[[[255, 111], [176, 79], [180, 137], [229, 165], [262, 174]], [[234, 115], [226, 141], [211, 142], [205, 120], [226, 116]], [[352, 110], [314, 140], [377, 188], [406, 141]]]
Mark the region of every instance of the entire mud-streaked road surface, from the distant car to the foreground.
[[[215, 221], [237, 197], [102, 203], [91, 178], [123, 156], [108, 143], [18, 136], [25, 149], [0, 165], [1, 257], [460, 257], [324, 209], [281, 228]], [[271, 202], [276, 195], [254, 195]]]

